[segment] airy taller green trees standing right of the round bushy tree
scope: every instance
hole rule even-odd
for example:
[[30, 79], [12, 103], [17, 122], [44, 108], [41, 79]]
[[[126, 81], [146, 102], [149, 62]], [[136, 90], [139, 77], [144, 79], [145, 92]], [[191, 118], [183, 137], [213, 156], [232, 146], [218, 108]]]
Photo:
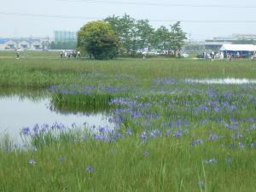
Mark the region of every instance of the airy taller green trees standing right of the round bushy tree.
[[108, 16], [106, 22], [113, 28], [113, 32], [119, 38], [126, 52], [138, 49], [160, 49], [171, 51], [176, 55], [182, 49], [186, 33], [183, 32], [180, 22], [154, 29], [148, 20], [135, 20], [129, 15]]

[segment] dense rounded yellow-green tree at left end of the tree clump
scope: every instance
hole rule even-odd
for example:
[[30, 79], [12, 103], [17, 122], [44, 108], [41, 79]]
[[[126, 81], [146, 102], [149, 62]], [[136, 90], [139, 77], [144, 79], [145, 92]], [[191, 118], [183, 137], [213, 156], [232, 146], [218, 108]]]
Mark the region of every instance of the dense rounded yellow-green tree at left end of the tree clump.
[[119, 40], [108, 23], [91, 21], [79, 30], [78, 47], [97, 60], [112, 59], [118, 54]]

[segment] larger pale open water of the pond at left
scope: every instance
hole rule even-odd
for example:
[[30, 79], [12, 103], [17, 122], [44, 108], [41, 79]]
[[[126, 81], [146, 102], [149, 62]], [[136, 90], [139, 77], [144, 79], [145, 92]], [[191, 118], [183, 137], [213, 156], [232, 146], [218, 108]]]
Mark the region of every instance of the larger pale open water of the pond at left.
[[33, 100], [29, 97], [0, 96], [0, 137], [8, 134], [12, 138], [20, 137], [22, 127], [34, 125], [53, 125], [61, 123], [71, 127], [83, 126], [96, 131], [99, 127], [113, 128], [107, 113], [84, 113], [78, 111], [55, 110], [49, 98]]

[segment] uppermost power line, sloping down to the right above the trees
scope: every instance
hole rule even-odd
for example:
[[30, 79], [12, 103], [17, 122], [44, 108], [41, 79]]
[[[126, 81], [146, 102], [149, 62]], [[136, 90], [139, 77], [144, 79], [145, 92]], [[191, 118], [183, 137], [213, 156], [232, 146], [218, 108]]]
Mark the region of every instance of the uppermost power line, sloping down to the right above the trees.
[[150, 3], [150, 2], [120, 2], [106, 0], [56, 0], [67, 3], [103, 3], [115, 5], [137, 5], [137, 6], [161, 6], [161, 7], [186, 7], [186, 8], [224, 8], [224, 9], [256, 9], [256, 5], [239, 4], [196, 4], [196, 3]]

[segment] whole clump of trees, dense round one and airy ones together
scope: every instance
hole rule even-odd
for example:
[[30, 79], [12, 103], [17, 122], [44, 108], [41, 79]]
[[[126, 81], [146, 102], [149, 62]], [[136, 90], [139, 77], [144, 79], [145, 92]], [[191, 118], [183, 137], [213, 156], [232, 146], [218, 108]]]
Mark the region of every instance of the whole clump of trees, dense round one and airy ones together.
[[78, 47], [96, 59], [111, 59], [118, 52], [134, 54], [148, 49], [176, 56], [182, 49], [186, 33], [181, 23], [154, 28], [148, 20], [135, 20], [130, 15], [108, 16], [92, 21], [78, 32]]

